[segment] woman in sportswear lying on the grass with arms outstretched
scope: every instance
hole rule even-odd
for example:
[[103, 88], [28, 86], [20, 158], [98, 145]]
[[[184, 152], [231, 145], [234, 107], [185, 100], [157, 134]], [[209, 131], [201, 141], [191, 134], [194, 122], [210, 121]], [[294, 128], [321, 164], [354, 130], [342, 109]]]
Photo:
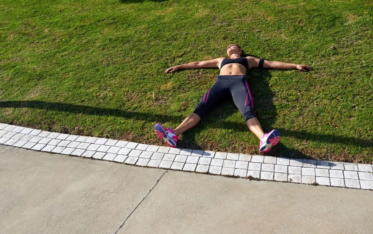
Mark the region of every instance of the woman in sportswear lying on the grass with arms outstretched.
[[272, 146], [280, 142], [280, 133], [274, 129], [269, 133], [264, 133], [258, 119], [253, 110], [253, 97], [251, 95], [249, 85], [247, 83], [246, 73], [254, 67], [260, 68], [277, 68], [277, 69], [298, 69], [303, 72], [313, 70], [307, 65], [282, 63], [276, 61], [268, 61], [258, 59], [256, 57], [241, 57], [243, 54], [242, 48], [235, 44], [228, 45], [227, 54], [229, 58], [220, 57], [208, 61], [198, 61], [188, 64], [182, 64], [170, 67], [164, 73], [176, 72], [178, 69], [187, 68], [208, 68], [217, 67], [220, 69], [220, 74], [216, 78], [214, 85], [203, 95], [200, 103], [192, 114], [176, 129], [167, 129], [157, 123], [154, 126], [156, 135], [164, 140], [170, 147], [176, 147], [178, 136], [188, 129], [191, 129], [204, 117], [210, 113], [217, 105], [228, 98], [230, 95], [233, 102], [238, 107], [242, 116], [245, 118], [246, 125], [260, 140], [259, 151], [262, 153], [269, 152]]

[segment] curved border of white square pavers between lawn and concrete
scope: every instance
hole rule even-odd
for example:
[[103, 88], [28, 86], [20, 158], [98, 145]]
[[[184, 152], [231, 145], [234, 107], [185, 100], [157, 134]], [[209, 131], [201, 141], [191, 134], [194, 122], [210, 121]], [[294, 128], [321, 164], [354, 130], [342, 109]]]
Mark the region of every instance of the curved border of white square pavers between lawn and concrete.
[[0, 144], [142, 167], [373, 190], [371, 164], [170, 148], [0, 123]]

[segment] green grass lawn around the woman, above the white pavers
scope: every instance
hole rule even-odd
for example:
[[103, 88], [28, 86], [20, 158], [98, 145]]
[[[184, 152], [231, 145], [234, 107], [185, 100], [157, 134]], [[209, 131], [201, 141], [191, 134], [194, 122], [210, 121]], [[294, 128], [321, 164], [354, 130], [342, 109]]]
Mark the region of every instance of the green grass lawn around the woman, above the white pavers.
[[[163, 145], [153, 126], [178, 126], [218, 69], [170, 66], [226, 56], [231, 43], [313, 72], [248, 73], [269, 155], [373, 162], [372, 2], [2, 0], [0, 122]], [[331, 48], [333, 46], [334, 48]], [[259, 154], [227, 101], [179, 147]]]

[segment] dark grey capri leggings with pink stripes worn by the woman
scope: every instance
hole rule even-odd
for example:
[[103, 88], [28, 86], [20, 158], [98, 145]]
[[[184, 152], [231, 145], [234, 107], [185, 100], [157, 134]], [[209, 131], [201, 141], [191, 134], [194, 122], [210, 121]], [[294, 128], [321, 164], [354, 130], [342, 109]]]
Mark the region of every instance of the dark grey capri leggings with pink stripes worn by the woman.
[[203, 118], [229, 96], [232, 96], [234, 104], [245, 121], [256, 117], [253, 109], [253, 96], [247, 83], [247, 76], [244, 75], [217, 76], [216, 82], [203, 95], [193, 113]]

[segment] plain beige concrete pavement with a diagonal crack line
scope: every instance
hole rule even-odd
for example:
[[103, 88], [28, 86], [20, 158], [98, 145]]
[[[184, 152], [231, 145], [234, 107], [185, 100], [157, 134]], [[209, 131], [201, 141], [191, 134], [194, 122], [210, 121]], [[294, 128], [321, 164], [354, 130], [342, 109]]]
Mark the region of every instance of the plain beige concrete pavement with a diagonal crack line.
[[0, 233], [373, 233], [373, 192], [0, 145]]

